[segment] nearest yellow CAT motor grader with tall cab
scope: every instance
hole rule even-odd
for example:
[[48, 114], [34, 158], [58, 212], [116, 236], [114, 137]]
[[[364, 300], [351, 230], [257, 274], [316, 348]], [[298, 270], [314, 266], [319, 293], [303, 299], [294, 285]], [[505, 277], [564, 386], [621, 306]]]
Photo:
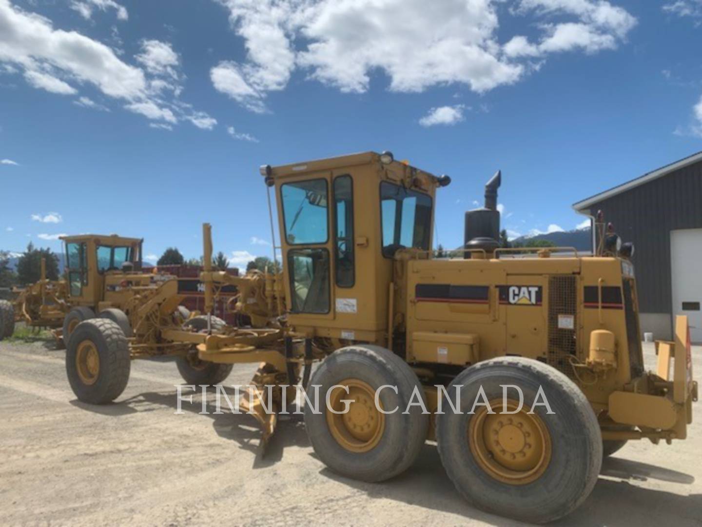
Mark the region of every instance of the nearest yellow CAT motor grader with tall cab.
[[[264, 439], [301, 382], [307, 434], [333, 471], [382, 481], [430, 439], [474, 505], [546, 522], [588, 497], [602, 456], [626, 441], [686, 437], [697, 398], [687, 320], [677, 319], [675, 341], [658, 344], [657, 371], [647, 372], [633, 247], [602, 219], [596, 256], [498, 247], [498, 173], [485, 206], [465, 215], [465, 249], [439, 259], [435, 193], [448, 176], [390, 152], [260, 173], [275, 193], [284, 266], [263, 277], [256, 298], [259, 323], [276, 327], [159, 335], [196, 344], [201, 364], [260, 363], [254, 384], [264, 396], [249, 408]], [[211, 254], [206, 225], [206, 263]], [[206, 311], [232, 280], [206, 267]], [[77, 396], [119, 396], [137, 341], [110, 320], [79, 323], [67, 352]], [[89, 375], [74, 373], [81, 367]], [[317, 391], [326, 404], [310, 404]]]

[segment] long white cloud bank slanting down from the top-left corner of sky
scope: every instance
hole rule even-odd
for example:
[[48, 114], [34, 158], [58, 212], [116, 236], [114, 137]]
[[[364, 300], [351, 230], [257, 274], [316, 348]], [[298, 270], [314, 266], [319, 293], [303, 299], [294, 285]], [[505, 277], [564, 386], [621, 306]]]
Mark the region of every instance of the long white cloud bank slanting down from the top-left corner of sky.
[[[118, 17], [126, 19], [126, 9], [112, 0], [79, 4], [83, 11], [85, 6], [116, 9]], [[187, 120], [201, 129], [216, 124], [213, 117], [180, 101], [185, 75], [170, 43], [141, 41], [140, 53], [134, 57], [141, 67], [128, 64], [120, 53], [79, 32], [54, 29], [48, 18], [0, 0], [0, 67], [22, 72], [30, 86], [73, 95], [78, 93], [77, 86], [91, 84], [148, 119], [171, 124]], [[74, 102], [85, 108], [104, 108], [87, 97]]]

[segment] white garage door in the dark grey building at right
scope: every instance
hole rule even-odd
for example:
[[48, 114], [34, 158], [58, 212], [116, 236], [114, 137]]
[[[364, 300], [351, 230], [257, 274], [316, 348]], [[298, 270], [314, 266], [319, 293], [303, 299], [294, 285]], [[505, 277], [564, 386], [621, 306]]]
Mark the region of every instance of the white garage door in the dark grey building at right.
[[702, 342], [702, 229], [670, 231], [673, 315], [687, 315], [690, 338]]

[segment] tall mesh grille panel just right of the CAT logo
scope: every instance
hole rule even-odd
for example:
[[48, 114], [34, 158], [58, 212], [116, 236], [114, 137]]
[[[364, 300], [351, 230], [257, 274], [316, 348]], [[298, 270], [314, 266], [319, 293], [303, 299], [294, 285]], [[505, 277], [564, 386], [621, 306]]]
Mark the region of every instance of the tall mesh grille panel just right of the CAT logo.
[[[569, 358], [577, 356], [578, 297], [576, 277], [554, 275], [548, 278], [548, 363], [574, 377]], [[573, 329], [558, 327], [558, 315], [571, 315]]]

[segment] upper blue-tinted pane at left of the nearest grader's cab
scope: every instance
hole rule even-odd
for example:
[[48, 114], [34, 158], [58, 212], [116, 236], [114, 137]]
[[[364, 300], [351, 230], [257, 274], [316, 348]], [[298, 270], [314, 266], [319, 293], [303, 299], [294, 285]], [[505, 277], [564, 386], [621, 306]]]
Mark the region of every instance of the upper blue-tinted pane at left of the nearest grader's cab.
[[326, 179], [286, 183], [281, 186], [280, 195], [289, 245], [326, 243], [329, 239]]

